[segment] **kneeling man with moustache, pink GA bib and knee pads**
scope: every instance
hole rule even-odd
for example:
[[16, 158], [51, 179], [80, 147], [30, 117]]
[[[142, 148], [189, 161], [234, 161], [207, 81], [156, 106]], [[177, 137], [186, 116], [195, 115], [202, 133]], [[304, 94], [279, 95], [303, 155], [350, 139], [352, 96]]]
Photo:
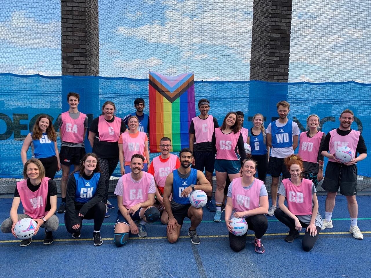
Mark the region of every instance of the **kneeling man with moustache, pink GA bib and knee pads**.
[[119, 211], [114, 226], [116, 246], [124, 245], [131, 234], [145, 238], [145, 225], [160, 219], [160, 211], [155, 203], [155, 180], [150, 173], [142, 171], [144, 156], [131, 157], [131, 172], [123, 175], [117, 182], [115, 194]]

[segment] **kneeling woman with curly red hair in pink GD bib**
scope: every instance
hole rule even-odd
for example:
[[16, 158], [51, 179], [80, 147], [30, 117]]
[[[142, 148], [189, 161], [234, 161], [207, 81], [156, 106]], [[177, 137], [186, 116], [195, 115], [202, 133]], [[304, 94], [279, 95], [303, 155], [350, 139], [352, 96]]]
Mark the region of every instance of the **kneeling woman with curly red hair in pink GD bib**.
[[[311, 251], [322, 228], [322, 217], [318, 212], [316, 187], [310, 179], [301, 178], [303, 159], [299, 155], [289, 155], [284, 160], [291, 178], [283, 179], [279, 190], [276, 218], [289, 227], [286, 242], [293, 242], [299, 237], [299, 231], [305, 229], [302, 240], [304, 251]], [[287, 207], [285, 205], [287, 199]]]

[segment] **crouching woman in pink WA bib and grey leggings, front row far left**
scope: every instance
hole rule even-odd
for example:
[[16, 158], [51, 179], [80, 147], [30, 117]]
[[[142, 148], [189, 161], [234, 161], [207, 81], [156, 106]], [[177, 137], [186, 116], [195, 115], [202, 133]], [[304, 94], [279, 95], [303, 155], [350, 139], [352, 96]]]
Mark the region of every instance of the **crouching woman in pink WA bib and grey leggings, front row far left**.
[[[55, 181], [45, 177], [45, 168], [39, 159], [31, 158], [24, 163], [24, 180], [17, 182], [14, 192], [10, 217], [1, 224], [1, 232], [12, 233], [14, 226], [23, 218], [32, 218], [37, 226], [34, 235], [39, 228], [45, 228], [44, 244], [53, 242], [53, 231], [58, 229], [58, 217], [55, 215], [57, 210], [57, 186]], [[22, 202], [24, 214], [18, 214], [19, 203]], [[24, 239], [20, 246], [27, 246], [32, 238]]]

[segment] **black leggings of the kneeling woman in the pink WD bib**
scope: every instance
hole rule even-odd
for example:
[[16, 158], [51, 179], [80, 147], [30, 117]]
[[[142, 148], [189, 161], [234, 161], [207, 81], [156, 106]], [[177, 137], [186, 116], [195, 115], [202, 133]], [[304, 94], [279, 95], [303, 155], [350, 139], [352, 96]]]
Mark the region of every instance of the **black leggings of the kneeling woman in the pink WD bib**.
[[[268, 219], [266, 216], [264, 214], [257, 214], [249, 216], [245, 220], [247, 222], [247, 228], [255, 232], [256, 238], [262, 238], [268, 229]], [[240, 252], [245, 248], [246, 235], [247, 232], [241, 236], [234, 235], [231, 232], [229, 233], [229, 246], [231, 246], [233, 251]]]

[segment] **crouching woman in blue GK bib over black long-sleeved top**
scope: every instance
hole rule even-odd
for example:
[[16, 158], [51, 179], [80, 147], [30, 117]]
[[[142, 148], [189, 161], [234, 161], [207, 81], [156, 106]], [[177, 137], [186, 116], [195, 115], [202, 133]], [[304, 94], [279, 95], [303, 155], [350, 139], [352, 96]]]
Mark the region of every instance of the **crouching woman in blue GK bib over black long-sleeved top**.
[[87, 153], [67, 183], [65, 225], [73, 238], [80, 237], [83, 219], [94, 219], [94, 246], [103, 244], [100, 230], [106, 214], [102, 202], [105, 188], [98, 156]]

